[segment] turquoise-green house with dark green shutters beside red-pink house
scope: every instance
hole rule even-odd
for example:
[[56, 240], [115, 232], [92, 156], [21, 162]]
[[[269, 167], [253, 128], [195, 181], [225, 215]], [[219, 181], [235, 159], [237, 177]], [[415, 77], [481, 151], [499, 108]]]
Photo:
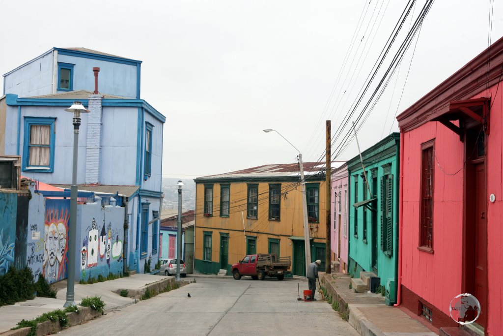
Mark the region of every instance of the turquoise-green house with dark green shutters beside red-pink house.
[[388, 305], [396, 302], [398, 280], [399, 153], [400, 134], [391, 133], [362, 152], [363, 165], [360, 155], [348, 161], [348, 271], [361, 292], [378, 277]]

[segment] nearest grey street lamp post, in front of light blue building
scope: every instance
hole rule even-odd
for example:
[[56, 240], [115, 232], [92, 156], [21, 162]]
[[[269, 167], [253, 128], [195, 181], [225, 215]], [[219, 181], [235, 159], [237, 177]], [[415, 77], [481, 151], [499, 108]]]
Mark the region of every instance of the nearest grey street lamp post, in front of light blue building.
[[89, 113], [82, 103], [73, 102], [65, 111], [73, 113], [73, 171], [70, 188], [70, 228], [68, 230], [68, 279], [66, 280], [66, 302], [63, 307], [75, 305], [75, 248], [77, 245], [77, 155], [78, 155], [78, 128], [80, 114]]

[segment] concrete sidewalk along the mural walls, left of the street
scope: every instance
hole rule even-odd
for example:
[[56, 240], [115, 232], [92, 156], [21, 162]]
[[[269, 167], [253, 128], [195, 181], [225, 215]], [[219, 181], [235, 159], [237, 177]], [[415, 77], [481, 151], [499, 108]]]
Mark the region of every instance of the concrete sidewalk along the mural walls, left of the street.
[[[134, 274], [130, 277], [109, 280], [92, 285], [80, 285], [75, 283], [75, 302], [80, 303], [80, 300], [87, 296], [101, 296], [106, 304], [106, 313], [137, 302], [135, 298], [122, 297], [115, 293], [116, 291], [122, 289], [139, 291], [147, 284], [157, 283], [170, 278], [174, 277]], [[36, 297], [33, 300], [0, 307], [0, 316], [2, 316], [2, 318], [0, 318], [0, 334], [15, 327], [22, 319], [33, 319], [43, 313], [61, 309], [66, 302], [66, 281], [58, 282], [55, 287], [59, 289], [56, 299]]]

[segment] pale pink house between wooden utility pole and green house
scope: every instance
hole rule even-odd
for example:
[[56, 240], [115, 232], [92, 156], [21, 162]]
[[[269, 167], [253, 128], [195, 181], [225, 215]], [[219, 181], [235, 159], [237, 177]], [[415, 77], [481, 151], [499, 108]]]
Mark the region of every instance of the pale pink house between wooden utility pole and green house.
[[[348, 271], [348, 166], [344, 163], [332, 171], [330, 249], [332, 261], [339, 262], [339, 272]], [[337, 264], [337, 263], [336, 263]]]

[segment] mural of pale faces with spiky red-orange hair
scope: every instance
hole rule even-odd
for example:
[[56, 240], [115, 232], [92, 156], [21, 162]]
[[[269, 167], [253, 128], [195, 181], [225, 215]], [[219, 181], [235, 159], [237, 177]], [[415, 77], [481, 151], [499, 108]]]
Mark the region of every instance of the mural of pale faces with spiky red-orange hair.
[[46, 200], [42, 273], [49, 283], [67, 276], [69, 205], [69, 199]]

